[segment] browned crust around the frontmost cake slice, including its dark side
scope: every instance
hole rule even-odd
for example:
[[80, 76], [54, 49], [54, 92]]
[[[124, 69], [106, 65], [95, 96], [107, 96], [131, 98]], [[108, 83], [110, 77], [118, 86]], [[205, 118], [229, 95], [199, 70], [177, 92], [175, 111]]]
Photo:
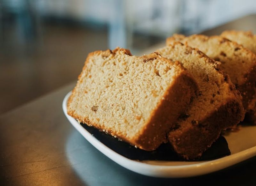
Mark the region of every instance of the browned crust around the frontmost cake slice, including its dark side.
[[[89, 59], [94, 55], [101, 55], [103, 57], [111, 57], [111, 55], [116, 55], [119, 53], [124, 53], [126, 55], [131, 55], [129, 50], [123, 48], [116, 48], [115, 50], [106, 50], [106, 51], [95, 51], [88, 55], [83, 71], [85, 70]], [[177, 80], [169, 86], [168, 90], [164, 94], [164, 99], [160, 101], [156, 110], [154, 110], [150, 116], [150, 120], [145, 128], [141, 129], [139, 135], [135, 136], [133, 139], [127, 138], [122, 134], [111, 130], [108, 126], [99, 125], [98, 123], [90, 121], [87, 117], [83, 117], [81, 115], [76, 114], [74, 110], [72, 110], [69, 105], [73, 100], [73, 96], [76, 91], [76, 87], [78, 84], [82, 83], [82, 73], [78, 77], [77, 85], [73, 89], [71, 96], [68, 99], [68, 115], [77, 119], [80, 123], [86, 123], [89, 126], [93, 126], [101, 131], [107, 132], [112, 136], [116, 136], [132, 145], [136, 145], [144, 150], [154, 150], [156, 149], [166, 138], [167, 132], [172, 127], [171, 124], [179, 117], [179, 112], [185, 109], [185, 107], [190, 102], [191, 96], [195, 95], [197, 90], [197, 85], [194, 79], [188, 74], [188, 72], [182, 67], [179, 62], [172, 62], [167, 58], [162, 57], [158, 53], [152, 53], [147, 56], [141, 56], [144, 62], [148, 62], [149, 60], [159, 59], [162, 61], [166, 61], [167, 63], [172, 63], [178, 66], [180, 69], [179, 74], [176, 76]], [[183, 101], [181, 101], [183, 98]], [[172, 106], [177, 107], [172, 107]], [[172, 114], [170, 114], [172, 113]], [[169, 120], [167, 120], [169, 119]], [[163, 123], [164, 122], [164, 123]], [[162, 127], [160, 127], [162, 125]], [[168, 126], [167, 126], [168, 125]], [[165, 131], [164, 131], [165, 130]], [[164, 135], [164, 136], [160, 136]]]

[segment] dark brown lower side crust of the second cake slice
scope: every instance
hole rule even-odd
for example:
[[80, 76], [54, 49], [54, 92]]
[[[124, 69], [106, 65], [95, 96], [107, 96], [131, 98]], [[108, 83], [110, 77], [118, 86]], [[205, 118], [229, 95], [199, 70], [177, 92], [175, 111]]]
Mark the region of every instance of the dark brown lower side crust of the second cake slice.
[[[223, 129], [230, 128], [243, 117], [243, 108], [236, 100], [230, 100], [217, 111], [189, 128], [169, 133], [168, 139], [175, 152], [193, 160], [202, 155], [219, 138]], [[230, 120], [227, 120], [230, 118]], [[218, 121], [218, 122], [216, 122]], [[212, 123], [215, 123], [214, 125]]]

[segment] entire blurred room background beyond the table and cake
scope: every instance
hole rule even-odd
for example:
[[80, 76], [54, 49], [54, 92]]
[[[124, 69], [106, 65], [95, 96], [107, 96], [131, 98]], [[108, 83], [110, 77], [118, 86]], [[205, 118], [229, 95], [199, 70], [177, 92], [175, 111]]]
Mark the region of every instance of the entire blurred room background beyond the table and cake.
[[255, 13], [255, 0], [0, 0], [0, 114], [74, 82], [94, 50], [139, 55]]

